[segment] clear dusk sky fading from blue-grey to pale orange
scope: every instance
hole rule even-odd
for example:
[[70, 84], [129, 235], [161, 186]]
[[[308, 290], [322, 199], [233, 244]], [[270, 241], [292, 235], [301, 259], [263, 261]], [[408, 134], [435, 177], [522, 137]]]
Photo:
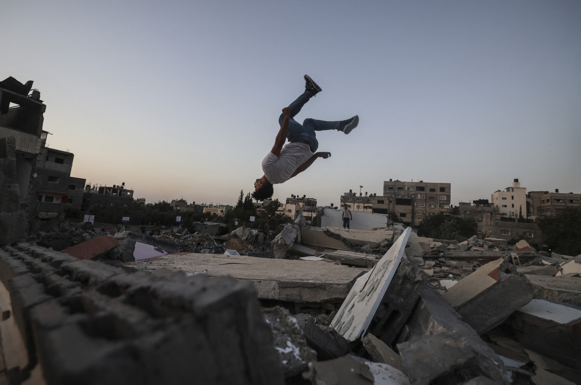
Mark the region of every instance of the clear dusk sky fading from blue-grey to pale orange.
[[581, 192], [581, 2], [2, 2], [0, 78], [34, 80], [72, 176], [148, 202], [234, 204], [278, 116], [360, 116], [275, 185], [339, 204], [384, 180], [451, 183], [453, 204], [519, 178]]

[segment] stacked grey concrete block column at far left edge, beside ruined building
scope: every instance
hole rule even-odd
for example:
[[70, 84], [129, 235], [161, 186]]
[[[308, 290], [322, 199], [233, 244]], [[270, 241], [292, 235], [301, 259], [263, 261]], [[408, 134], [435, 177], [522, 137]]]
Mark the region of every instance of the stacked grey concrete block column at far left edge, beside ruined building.
[[24, 241], [26, 213], [16, 183], [16, 138], [0, 137], [0, 246]]

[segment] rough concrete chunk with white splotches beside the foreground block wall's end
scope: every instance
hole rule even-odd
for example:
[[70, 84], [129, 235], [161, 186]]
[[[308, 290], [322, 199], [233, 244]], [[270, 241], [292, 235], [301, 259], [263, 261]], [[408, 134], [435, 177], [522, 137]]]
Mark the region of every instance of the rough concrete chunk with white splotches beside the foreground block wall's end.
[[281, 356], [285, 377], [294, 377], [308, 371], [309, 362], [314, 361], [317, 354], [307, 345], [296, 319], [280, 306], [263, 309], [263, 315], [272, 330], [274, 348]]

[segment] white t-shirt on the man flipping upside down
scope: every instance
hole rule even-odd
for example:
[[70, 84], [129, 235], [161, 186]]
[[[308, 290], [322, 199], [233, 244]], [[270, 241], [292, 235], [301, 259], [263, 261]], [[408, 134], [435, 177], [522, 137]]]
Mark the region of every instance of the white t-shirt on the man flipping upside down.
[[304, 162], [313, 156], [309, 144], [289, 143], [282, 147], [281, 156], [268, 152], [262, 161], [262, 170], [272, 184], [284, 183]]

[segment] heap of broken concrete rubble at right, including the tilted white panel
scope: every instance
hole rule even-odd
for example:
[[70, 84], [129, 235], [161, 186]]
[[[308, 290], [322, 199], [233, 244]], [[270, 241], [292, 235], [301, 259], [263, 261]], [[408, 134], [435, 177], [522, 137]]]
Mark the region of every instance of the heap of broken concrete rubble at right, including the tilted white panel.
[[[330, 317], [263, 310], [288, 383], [581, 383], [581, 255], [411, 234], [357, 278]], [[419, 242], [421, 256], [411, 255]], [[444, 282], [450, 276], [457, 282]]]

